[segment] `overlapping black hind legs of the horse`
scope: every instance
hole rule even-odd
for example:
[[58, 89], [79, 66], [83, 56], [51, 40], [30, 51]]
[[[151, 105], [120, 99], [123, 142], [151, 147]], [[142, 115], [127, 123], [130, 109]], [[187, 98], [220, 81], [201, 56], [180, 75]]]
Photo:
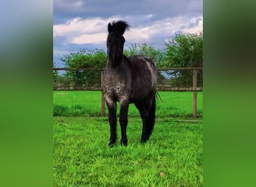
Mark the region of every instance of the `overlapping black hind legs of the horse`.
[[135, 102], [135, 106], [138, 108], [143, 122], [141, 143], [145, 143], [150, 138], [155, 124], [156, 98], [153, 96], [153, 99]]

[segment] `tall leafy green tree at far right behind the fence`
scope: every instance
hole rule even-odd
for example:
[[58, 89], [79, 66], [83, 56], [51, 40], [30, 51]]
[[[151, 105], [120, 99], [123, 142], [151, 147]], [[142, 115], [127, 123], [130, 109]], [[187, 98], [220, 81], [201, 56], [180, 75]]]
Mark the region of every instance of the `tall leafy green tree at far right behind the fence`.
[[[166, 62], [163, 67], [203, 67], [203, 33], [176, 34], [165, 43]], [[192, 71], [174, 70], [168, 72], [175, 86], [192, 86]], [[198, 85], [203, 84], [203, 72], [198, 71]]]

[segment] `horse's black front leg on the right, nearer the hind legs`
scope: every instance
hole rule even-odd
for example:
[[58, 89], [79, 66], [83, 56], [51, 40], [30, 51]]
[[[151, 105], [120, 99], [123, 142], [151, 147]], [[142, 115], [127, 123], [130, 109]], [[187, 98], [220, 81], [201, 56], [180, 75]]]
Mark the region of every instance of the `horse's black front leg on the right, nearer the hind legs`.
[[121, 144], [127, 146], [127, 116], [128, 116], [128, 101], [122, 101], [120, 103], [120, 118], [119, 123], [121, 126]]

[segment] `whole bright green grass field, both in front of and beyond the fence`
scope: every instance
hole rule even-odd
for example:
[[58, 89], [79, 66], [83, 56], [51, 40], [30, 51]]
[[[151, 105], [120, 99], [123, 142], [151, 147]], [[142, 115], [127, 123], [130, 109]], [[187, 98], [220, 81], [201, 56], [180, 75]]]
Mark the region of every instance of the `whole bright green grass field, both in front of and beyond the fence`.
[[55, 91], [54, 186], [203, 186], [203, 93], [198, 120], [191, 119], [192, 93], [160, 94], [147, 144], [140, 144], [141, 119], [131, 105], [128, 146], [110, 148], [100, 92]]

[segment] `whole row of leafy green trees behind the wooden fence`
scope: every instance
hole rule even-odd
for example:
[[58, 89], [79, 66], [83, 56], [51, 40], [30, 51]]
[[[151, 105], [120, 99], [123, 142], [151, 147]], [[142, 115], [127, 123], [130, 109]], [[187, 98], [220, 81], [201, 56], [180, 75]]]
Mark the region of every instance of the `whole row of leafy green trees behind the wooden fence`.
[[[124, 55], [144, 55], [150, 58], [156, 67], [203, 67], [203, 33], [178, 33], [171, 40], [165, 41], [164, 49], [154, 49], [153, 46], [142, 43], [133, 43], [124, 50]], [[79, 49], [64, 55], [60, 60], [66, 67], [102, 69], [106, 66], [107, 54], [103, 49]], [[70, 84], [67, 79], [73, 80], [73, 85], [97, 85], [100, 83], [100, 71], [76, 70], [67, 71], [60, 75], [53, 72], [54, 80]], [[159, 79], [171, 79], [172, 85], [186, 87], [192, 85], [192, 72], [187, 70], [171, 70], [164, 74], [159, 73]], [[62, 80], [62, 81], [61, 81]], [[198, 73], [198, 86], [202, 86], [203, 73]]]

